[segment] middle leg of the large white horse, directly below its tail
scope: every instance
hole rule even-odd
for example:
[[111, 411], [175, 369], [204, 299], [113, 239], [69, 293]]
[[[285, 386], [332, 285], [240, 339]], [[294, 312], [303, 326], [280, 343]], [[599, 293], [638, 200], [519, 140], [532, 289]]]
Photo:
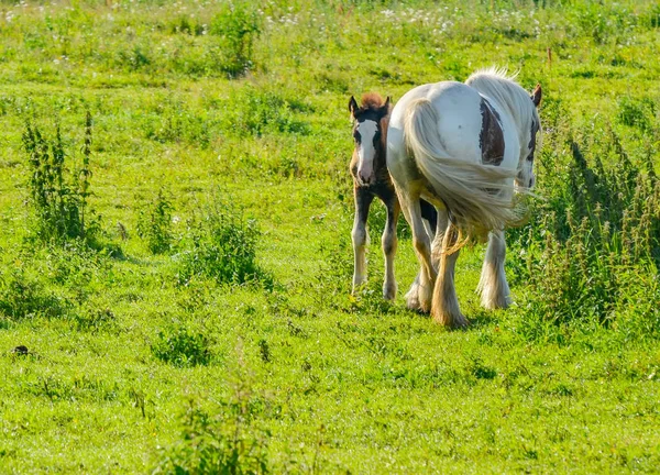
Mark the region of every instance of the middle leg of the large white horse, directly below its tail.
[[433, 288], [433, 305], [431, 308], [433, 320], [451, 328], [465, 327], [468, 324], [468, 320], [461, 313], [454, 286], [454, 268], [459, 258], [459, 251], [454, 251], [451, 254], [447, 252], [455, 244], [457, 239], [457, 229], [453, 224], [449, 224], [442, 236], [442, 244], [438, 256], [438, 279]]

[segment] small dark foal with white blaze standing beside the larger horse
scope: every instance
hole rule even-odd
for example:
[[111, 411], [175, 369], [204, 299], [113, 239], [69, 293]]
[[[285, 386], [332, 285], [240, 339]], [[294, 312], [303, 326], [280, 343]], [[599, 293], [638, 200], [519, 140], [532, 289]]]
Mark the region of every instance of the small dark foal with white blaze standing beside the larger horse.
[[[366, 219], [372, 201], [380, 198], [387, 208], [387, 221], [383, 231], [382, 246], [385, 255], [385, 279], [383, 297], [392, 300], [396, 296], [397, 285], [394, 277], [394, 256], [396, 254], [396, 223], [400, 206], [389, 178], [385, 161], [387, 143], [387, 123], [392, 110], [392, 99], [385, 102], [375, 93], [362, 96], [359, 106], [351, 96], [349, 111], [353, 122], [354, 150], [349, 169], [353, 177], [355, 198], [355, 219], [351, 238], [353, 241], [354, 272], [353, 294], [366, 281]], [[428, 202], [420, 203], [421, 216], [432, 230], [436, 229], [437, 212]]]

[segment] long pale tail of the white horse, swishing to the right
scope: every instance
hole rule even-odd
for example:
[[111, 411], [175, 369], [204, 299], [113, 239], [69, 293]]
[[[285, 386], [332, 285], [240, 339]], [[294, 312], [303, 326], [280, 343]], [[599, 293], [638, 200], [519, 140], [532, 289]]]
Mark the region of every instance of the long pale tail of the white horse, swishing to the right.
[[413, 101], [406, 110], [404, 134], [420, 173], [444, 202], [459, 231], [455, 248], [471, 238], [520, 222], [513, 199], [517, 170], [465, 162], [446, 152], [439, 117], [429, 99]]

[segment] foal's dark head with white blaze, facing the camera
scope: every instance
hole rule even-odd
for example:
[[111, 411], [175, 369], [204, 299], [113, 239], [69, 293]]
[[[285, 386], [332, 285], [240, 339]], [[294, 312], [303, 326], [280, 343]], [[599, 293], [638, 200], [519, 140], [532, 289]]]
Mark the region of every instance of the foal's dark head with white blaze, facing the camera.
[[376, 168], [385, 166], [385, 135], [389, 119], [391, 99], [385, 102], [377, 93], [362, 96], [358, 106], [351, 96], [349, 110], [353, 120], [355, 150], [351, 161], [351, 174], [360, 185], [373, 185], [376, 181]]

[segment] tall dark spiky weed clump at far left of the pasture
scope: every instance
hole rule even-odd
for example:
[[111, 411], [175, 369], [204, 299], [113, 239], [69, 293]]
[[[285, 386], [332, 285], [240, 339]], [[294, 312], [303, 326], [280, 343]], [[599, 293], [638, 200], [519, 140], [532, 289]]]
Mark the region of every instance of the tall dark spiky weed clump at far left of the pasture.
[[28, 154], [30, 205], [34, 214], [34, 235], [42, 242], [89, 240], [98, 231], [98, 219], [89, 208], [91, 168], [91, 114], [85, 121], [82, 162], [67, 167], [59, 124], [48, 136], [28, 121], [23, 146]]

